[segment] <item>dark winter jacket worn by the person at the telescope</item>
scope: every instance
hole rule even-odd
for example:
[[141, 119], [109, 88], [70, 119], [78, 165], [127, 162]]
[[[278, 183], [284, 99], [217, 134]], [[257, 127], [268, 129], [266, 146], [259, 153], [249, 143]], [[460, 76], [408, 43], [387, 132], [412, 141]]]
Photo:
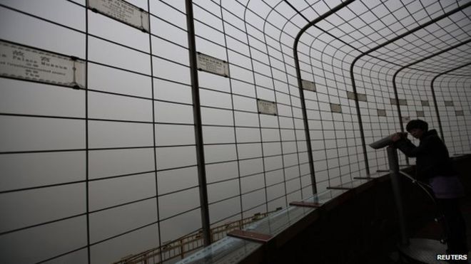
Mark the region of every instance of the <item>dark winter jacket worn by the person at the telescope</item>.
[[407, 157], [416, 158], [416, 174], [419, 180], [456, 174], [447, 147], [438, 137], [437, 130], [425, 132], [420, 138], [418, 147], [415, 147], [407, 138], [397, 141], [395, 147], [404, 152]]

